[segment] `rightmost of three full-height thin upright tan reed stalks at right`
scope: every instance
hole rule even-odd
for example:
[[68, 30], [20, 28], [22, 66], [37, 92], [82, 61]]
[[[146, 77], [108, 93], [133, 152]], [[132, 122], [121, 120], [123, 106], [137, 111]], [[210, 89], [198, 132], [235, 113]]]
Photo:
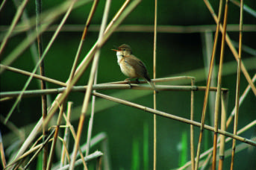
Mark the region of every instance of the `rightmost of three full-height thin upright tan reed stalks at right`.
[[[242, 31], [243, 31], [243, 0], [240, 1], [240, 34], [239, 34], [239, 54], [237, 63], [237, 89], [236, 89], [236, 103], [234, 114], [234, 135], [237, 134], [238, 113], [239, 113], [239, 96], [240, 96], [240, 71], [241, 71], [241, 56], [242, 56]], [[231, 170], [234, 169], [234, 154], [236, 150], [236, 140], [233, 139], [232, 154], [231, 154]]]

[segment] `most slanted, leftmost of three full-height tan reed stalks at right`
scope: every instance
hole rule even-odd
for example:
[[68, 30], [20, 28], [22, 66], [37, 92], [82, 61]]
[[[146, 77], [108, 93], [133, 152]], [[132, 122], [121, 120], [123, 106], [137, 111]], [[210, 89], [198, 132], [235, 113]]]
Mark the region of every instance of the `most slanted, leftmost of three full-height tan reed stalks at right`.
[[208, 102], [208, 97], [209, 97], [209, 89], [210, 89], [210, 81], [212, 77], [212, 72], [213, 72], [213, 62], [216, 54], [216, 46], [217, 46], [217, 41], [219, 37], [219, 25], [220, 25], [220, 19], [222, 16], [222, 1], [219, 1], [219, 15], [217, 19], [217, 25], [216, 25], [216, 33], [214, 37], [214, 44], [213, 44], [213, 52], [210, 60], [210, 66], [209, 66], [209, 73], [208, 73], [208, 78], [207, 78], [207, 88], [205, 91], [205, 99], [204, 99], [204, 106], [202, 110], [202, 120], [201, 120], [201, 127], [200, 127], [200, 134], [199, 134], [199, 143], [197, 146], [197, 151], [196, 151], [196, 163], [195, 163], [195, 169], [198, 169], [199, 166], [199, 158], [200, 158], [200, 150], [201, 150], [201, 143], [202, 143], [202, 135], [203, 135], [203, 130], [204, 130], [204, 125], [205, 125], [205, 113], [207, 109], [207, 102]]

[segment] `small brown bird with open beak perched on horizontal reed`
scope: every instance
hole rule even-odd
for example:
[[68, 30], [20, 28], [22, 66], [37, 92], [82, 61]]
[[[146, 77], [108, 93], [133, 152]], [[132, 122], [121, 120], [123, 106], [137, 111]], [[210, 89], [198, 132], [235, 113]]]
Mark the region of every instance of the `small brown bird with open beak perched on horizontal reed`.
[[131, 78], [143, 78], [156, 92], [158, 92], [149, 78], [146, 66], [140, 59], [132, 54], [131, 47], [129, 45], [122, 44], [117, 50], [113, 49], [113, 51], [116, 51], [117, 63], [119, 64], [122, 73], [128, 77], [126, 80]]

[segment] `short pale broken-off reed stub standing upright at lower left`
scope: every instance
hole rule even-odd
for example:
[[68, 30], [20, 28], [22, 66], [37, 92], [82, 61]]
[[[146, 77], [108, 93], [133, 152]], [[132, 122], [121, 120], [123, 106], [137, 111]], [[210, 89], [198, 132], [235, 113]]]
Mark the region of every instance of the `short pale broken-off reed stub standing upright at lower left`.
[[[66, 119], [69, 122], [70, 121], [70, 115], [71, 115], [71, 110], [72, 110], [72, 101], [68, 102], [68, 108], [67, 108], [67, 112], [66, 112]], [[63, 147], [62, 147], [62, 154], [61, 154], [61, 160], [60, 160], [60, 168], [66, 165], [66, 157], [68, 156], [68, 151], [69, 149], [69, 126], [66, 122], [66, 128], [65, 128], [65, 132], [64, 132], [64, 137], [63, 137]], [[65, 147], [65, 145], [66, 147]]]

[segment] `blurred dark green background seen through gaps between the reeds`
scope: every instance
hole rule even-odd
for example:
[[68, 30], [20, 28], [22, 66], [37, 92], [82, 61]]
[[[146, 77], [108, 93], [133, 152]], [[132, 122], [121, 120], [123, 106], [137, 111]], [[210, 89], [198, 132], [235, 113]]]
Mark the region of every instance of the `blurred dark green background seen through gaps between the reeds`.
[[[62, 1], [43, 1], [43, 11], [56, 6]], [[210, 1], [213, 3], [215, 12], [218, 12], [218, 2]], [[255, 9], [255, 1], [244, 1], [252, 9]], [[112, 1], [110, 7], [109, 19], [114, 16], [123, 1]], [[79, 7], [73, 10], [66, 24], [84, 25], [90, 11], [91, 4]], [[29, 16], [35, 15], [34, 1], [29, 1], [26, 7]], [[99, 2], [99, 6], [96, 10], [96, 14], [93, 17], [92, 25], [99, 25], [102, 21], [102, 13], [104, 10], [104, 1]], [[16, 8], [11, 1], [7, 1], [4, 10], [0, 14], [1, 25], [10, 25], [11, 20], [15, 14]], [[157, 24], [158, 25], [214, 25], [215, 22], [210, 16], [204, 1], [158, 1], [157, 8]], [[224, 13], [224, 12], [223, 12]], [[60, 17], [62, 19], [62, 17]], [[60, 23], [60, 19], [54, 24]], [[236, 5], [230, 3], [228, 13], [228, 25], [239, 24], [240, 9]], [[244, 13], [243, 23], [246, 25], [255, 25], [255, 18], [248, 13]], [[122, 25], [153, 25], [154, 24], [154, 1], [142, 1], [138, 7], [122, 22]], [[3, 34], [3, 32], [1, 32]], [[75, 53], [78, 48], [79, 41], [81, 39], [82, 32], [60, 32], [57, 40], [51, 46], [49, 53], [46, 56], [46, 76], [54, 78], [59, 81], [66, 82], [69, 77], [69, 72], [72, 67], [72, 62], [75, 57]], [[87, 51], [92, 47], [98, 38], [98, 32], [90, 31], [84, 42], [81, 57], [87, 54]], [[238, 32], [228, 32], [232, 40], [238, 42]], [[46, 47], [53, 32], [46, 32], [43, 34], [43, 46]], [[109, 40], [104, 44], [101, 51], [101, 57], [99, 61], [99, 74], [98, 83], [105, 83], [111, 81], [122, 81], [125, 76], [120, 72], [119, 66], [116, 63], [116, 54], [110, 51], [111, 48], [127, 43], [131, 45], [134, 55], [140, 57], [144, 63], [146, 63], [149, 69], [149, 74], [153, 77], [153, 33], [131, 33], [131, 32], [115, 32]], [[4, 54], [1, 56], [1, 60], [10, 53], [16, 45], [19, 44], [25, 38], [25, 34], [19, 34], [12, 37], [7, 43], [4, 50]], [[221, 38], [221, 36], [220, 36]], [[248, 45], [255, 49], [255, 31], [245, 32], [243, 34], [243, 44]], [[216, 63], [219, 63], [219, 48], [216, 52]], [[254, 56], [255, 57], [255, 56]], [[252, 54], [243, 52], [243, 59], [252, 58]], [[228, 46], [225, 46], [225, 59], [224, 63], [234, 61], [234, 57], [231, 54]], [[256, 62], [253, 60], [256, 68]], [[31, 53], [27, 49], [22, 56], [19, 57], [11, 66], [24, 69], [29, 72], [34, 68], [33, 60], [31, 59]], [[172, 77], [175, 75], [190, 75], [195, 76], [196, 80], [199, 75], [204, 75], [202, 72], [194, 72], [197, 69], [203, 69], [204, 61], [202, 54], [202, 34], [157, 34], [157, 78]], [[229, 102], [228, 102], [228, 115], [233, 110], [235, 102], [235, 88], [236, 88], [236, 67], [227, 68], [225, 70], [231, 70], [232, 74], [225, 75], [222, 78], [222, 86], [229, 89]], [[249, 70], [249, 75], [253, 77], [255, 74], [255, 68]], [[217, 70], [217, 68], [216, 68]], [[86, 85], [89, 77], [90, 69], [84, 73], [84, 76], [78, 81], [77, 85]], [[201, 74], [200, 74], [201, 73]], [[14, 91], [22, 89], [27, 77], [18, 75], [13, 72], [4, 72], [1, 75], [1, 91]], [[196, 81], [196, 85], [205, 86], [205, 79]], [[188, 84], [187, 84], [188, 85]], [[241, 75], [241, 93], [248, 85], [246, 79]], [[55, 88], [57, 86], [47, 84], [48, 88]], [[32, 81], [28, 89], [39, 89], [36, 80]], [[130, 96], [140, 92], [138, 90], [110, 90], [100, 91], [104, 94], [121, 96], [123, 99], [130, 98]], [[149, 93], [146, 93], [149, 94]], [[196, 92], [195, 94], [195, 119], [200, 122], [202, 114], [202, 104], [204, 99], [204, 92]], [[54, 100], [55, 95], [51, 95], [51, 101]], [[72, 116], [78, 116], [80, 112], [81, 104], [84, 100], [84, 94], [74, 92], [69, 95], [69, 101], [74, 102], [74, 110]], [[97, 98], [98, 100], [98, 98]], [[1, 114], [6, 116], [10, 110], [14, 101], [6, 101], [1, 103]], [[143, 95], [141, 98], [136, 98], [132, 102], [145, 105], [146, 107], [153, 107], [153, 95]], [[99, 102], [96, 101], [96, 107]], [[100, 100], [100, 104], [112, 104], [110, 101]], [[37, 122], [41, 116], [40, 97], [36, 98], [24, 98], [20, 102], [13, 115], [10, 117], [10, 121], [18, 127], [23, 127], [31, 123]], [[181, 116], [190, 119], [190, 92], [160, 92], [157, 94], [157, 110], [162, 110], [166, 113], [172, 113], [176, 116]], [[240, 116], [238, 129], [244, 127], [255, 120], [255, 96], [250, 91], [247, 95], [244, 103], [240, 107]], [[209, 112], [207, 112], [208, 114]], [[209, 116], [207, 115], [207, 125], [210, 124]], [[78, 125], [78, 119], [72, 122], [75, 129]], [[81, 139], [81, 143], [86, 142], [88, 119], [84, 125], [84, 133]], [[134, 139], [137, 139], [140, 146], [140, 169], [143, 169], [143, 125], [149, 125], [149, 169], [153, 166], [153, 116], [150, 113], [146, 113], [141, 110], [136, 110], [131, 107], [127, 107], [121, 104], [116, 104], [114, 107], [110, 107], [106, 110], [96, 113], [95, 122], [93, 126], [93, 135], [100, 132], [106, 132], [108, 138], [108, 145], [110, 150], [110, 160], [113, 169], [131, 169], [132, 160], [132, 145]], [[7, 127], [1, 125], [1, 131], [4, 134], [8, 133]], [[181, 133], [187, 133], [189, 135], [190, 125], [184, 125], [184, 123], [177, 122], [171, 119], [157, 117], [157, 169], [174, 169], [178, 167], [180, 151], [178, 151], [178, 145], [181, 142]], [[233, 132], [233, 124], [228, 128], [229, 132]], [[195, 146], [197, 147], [199, 128], [195, 128]], [[62, 133], [62, 132], [61, 132]], [[212, 145], [212, 134], [207, 133], [205, 130], [205, 136], [203, 142], [208, 140], [206, 147]], [[255, 128], [246, 131], [241, 136], [251, 138], [255, 136]], [[188, 145], [189, 145], [189, 137]], [[14, 141], [15, 139], [13, 139]], [[10, 142], [8, 140], [7, 142]], [[10, 143], [4, 143], [9, 145]], [[240, 142], [237, 142], [240, 144]], [[189, 146], [188, 146], [189, 147]], [[71, 147], [72, 148], [72, 147]], [[226, 148], [231, 148], [231, 142], [226, 145]], [[100, 145], [92, 148], [91, 151], [101, 150]], [[202, 148], [205, 151], [207, 148]], [[72, 150], [72, 149], [71, 149]], [[252, 169], [256, 167], [255, 163], [255, 148], [251, 150], [244, 150], [236, 154], [235, 157], [235, 169]], [[190, 160], [190, 150], [187, 149], [187, 160]], [[225, 169], [229, 169], [231, 159], [225, 158]], [[93, 164], [93, 163], [92, 163]], [[89, 164], [90, 166], [93, 166]]]

